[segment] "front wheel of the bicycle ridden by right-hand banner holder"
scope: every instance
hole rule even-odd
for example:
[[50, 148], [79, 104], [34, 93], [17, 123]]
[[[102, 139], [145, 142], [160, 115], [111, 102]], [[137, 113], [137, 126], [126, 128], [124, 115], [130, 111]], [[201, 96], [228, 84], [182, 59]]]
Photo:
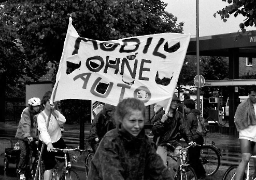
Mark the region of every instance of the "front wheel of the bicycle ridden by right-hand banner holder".
[[178, 169], [176, 180], [197, 180], [195, 171], [190, 166], [183, 166], [180, 170]]

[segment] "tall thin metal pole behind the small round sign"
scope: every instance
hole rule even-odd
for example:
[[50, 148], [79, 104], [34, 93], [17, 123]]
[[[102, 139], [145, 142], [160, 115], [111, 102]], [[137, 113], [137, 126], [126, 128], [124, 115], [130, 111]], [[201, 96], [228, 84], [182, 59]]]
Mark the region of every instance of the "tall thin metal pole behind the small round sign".
[[[200, 62], [199, 62], [199, 6], [196, 0], [196, 74], [200, 75]], [[200, 88], [196, 89], [196, 104], [197, 109], [200, 109]]]

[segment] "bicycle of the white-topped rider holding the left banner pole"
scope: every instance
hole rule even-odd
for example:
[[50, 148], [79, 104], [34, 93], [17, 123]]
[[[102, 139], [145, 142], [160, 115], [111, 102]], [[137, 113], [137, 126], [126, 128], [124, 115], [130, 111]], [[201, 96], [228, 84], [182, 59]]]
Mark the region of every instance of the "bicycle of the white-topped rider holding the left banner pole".
[[[64, 153], [64, 157], [62, 157], [62, 156], [55, 156], [55, 158], [65, 159], [65, 164], [64, 164], [63, 170], [62, 170], [62, 172], [60, 174], [59, 180], [65, 180], [65, 179], [80, 180], [76, 170], [72, 166], [68, 165], [67, 154], [68, 154], [69, 151], [79, 151], [79, 152], [82, 152], [83, 150], [80, 150], [79, 147], [78, 148], [74, 148], [74, 149], [53, 148], [53, 150], [51, 150], [51, 152], [63, 152]], [[57, 168], [58, 167], [54, 168], [54, 170], [53, 170], [53, 178], [52, 179], [55, 179], [55, 174], [57, 172], [56, 171]]]

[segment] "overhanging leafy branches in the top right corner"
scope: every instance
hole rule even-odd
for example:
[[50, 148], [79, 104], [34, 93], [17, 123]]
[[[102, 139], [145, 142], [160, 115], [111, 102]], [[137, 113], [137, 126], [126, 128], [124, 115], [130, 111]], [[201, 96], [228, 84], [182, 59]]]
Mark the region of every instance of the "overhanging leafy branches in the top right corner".
[[[226, 2], [226, 0], [222, 0]], [[226, 6], [222, 10], [217, 11], [223, 20], [226, 22], [227, 19], [230, 17], [230, 14], [234, 14], [234, 17], [237, 17], [238, 14], [243, 15], [246, 17], [244, 22], [239, 24], [239, 28], [244, 33], [246, 31], [245, 27], [253, 26], [256, 27], [256, 1], [247, 1], [247, 0], [227, 0], [229, 6]], [[214, 17], [216, 17], [216, 13]]]

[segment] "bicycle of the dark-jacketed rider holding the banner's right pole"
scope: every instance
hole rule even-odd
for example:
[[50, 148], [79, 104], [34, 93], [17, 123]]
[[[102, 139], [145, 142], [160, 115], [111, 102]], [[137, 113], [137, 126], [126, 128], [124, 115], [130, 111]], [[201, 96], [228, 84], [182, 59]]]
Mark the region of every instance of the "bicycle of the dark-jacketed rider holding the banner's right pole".
[[[188, 149], [193, 146], [193, 145], [198, 145], [198, 144], [190, 144], [186, 148], [175, 148], [172, 144], [166, 143], [163, 144], [163, 146], [166, 146], [167, 151], [172, 151], [174, 149], [179, 150], [179, 157], [180, 157], [180, 165], [178, 170], [176, 171], [176, 175], [174, 177], [175, 180], [197, 180], [196, 174], [194, 169], [189, 165], [188, 163]], [[168, 155], [168, 154], [167, 154]], [[177, 162], [177, 158], [174, 156], [170, 156]], [[176, 156], [177, 157], [177, 156]]]

